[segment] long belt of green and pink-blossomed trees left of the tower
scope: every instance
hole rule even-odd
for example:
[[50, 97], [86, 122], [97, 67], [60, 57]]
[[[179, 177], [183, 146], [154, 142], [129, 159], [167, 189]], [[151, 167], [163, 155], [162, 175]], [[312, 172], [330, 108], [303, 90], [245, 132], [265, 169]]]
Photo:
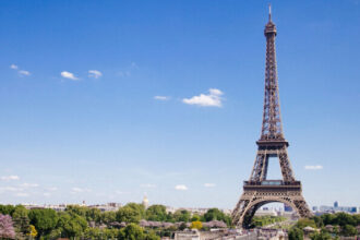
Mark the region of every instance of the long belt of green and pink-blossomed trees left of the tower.
[[63, 212], [0, 205], [0, 239], [158, 240], [164, 236], [171, 237], [177, 230], [202, 229], [203, 223], [214, 220], [230, 227], [230, 216], [218, 208], [197, 215], [185, 209], [168, 213], [164, 205], [145, 209], [136, 203], [129, 203], [116, 212], [79, 205], [68, 205]]

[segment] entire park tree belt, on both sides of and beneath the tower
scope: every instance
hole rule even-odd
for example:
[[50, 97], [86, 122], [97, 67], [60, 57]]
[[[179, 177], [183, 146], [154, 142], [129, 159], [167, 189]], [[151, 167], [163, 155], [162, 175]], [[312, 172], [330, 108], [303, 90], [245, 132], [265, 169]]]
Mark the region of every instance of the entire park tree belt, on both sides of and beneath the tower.
[[[252, 227], [266, 227], [284, 220], [284, 217], [255, 216]], [[301, 218], [287, 230], [289, 240], [304, 237], [329, 240], [358, 236], [359, 226], [359, 214], [336, 213]], [[218, 208], [211, 208], [205, 214], [192, 214], [185, 209], [169, 213], [163, 205], [152, 205], [145, 209], [136, 203], [129, 203], [116, 212], [100, 212], [79, 205], [68, 205], [63, 212], [0, 205], [0, 239], [159, 240], [187, 228], [209, 230], [218, 227], [232, 227], [230, 216]]]

